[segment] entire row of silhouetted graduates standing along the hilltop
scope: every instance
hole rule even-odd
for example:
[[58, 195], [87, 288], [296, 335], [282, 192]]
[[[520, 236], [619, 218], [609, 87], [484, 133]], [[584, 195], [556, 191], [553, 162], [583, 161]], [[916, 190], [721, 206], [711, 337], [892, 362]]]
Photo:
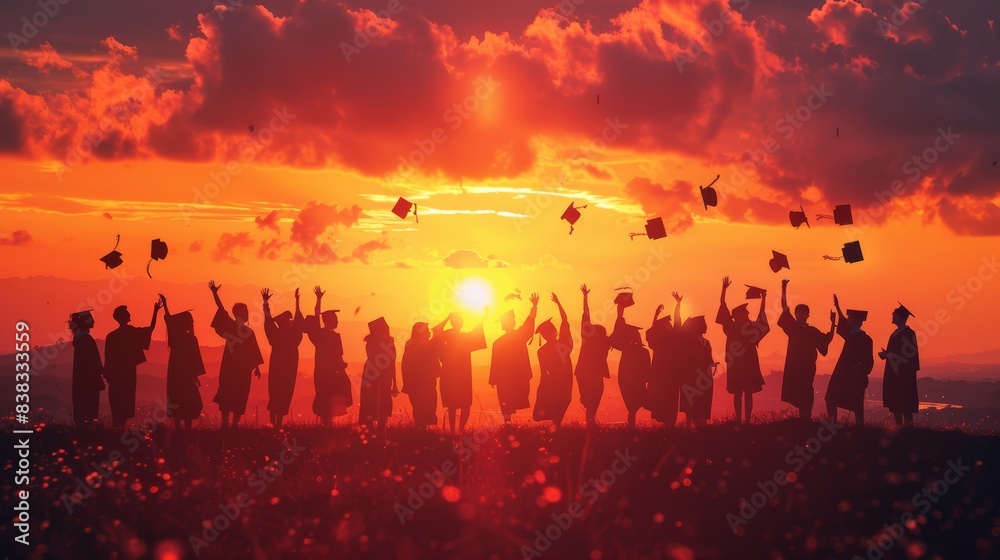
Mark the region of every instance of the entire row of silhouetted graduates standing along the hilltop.
[[[787, 280], [782, 282], [782, 312], [778, 319], [778, 326], [788, 336], [781, 400], [794, 406], [801, 418], [811, 418], [816, 360], [818, 355], [828, 353], [836, 333], [844, 339], [844, 346], [826, 392], [827, 414], [835, 418], [838, 409], [845, 409], [855, 414], [857, 423], [863, 423], [865, 390], [874, 366], [874, 345], [862, 330], [867, 312], [848, 309], [845, 314], [835, 295], [836, 311], [830, 312], [830, 328], [820, 331], [808, 323], [808, 306], [797, 305], [794, 313], [788, 308], [787, 284]], [[760, 309], [756, 318], [751, 319], [748, 304], [732, 310], [728, 307], [726, 291], [730, 285], [729, 278], [724, 278], [716, 323], [726, 336], [726, 390], [733, 395], [736, 421], [748, 423], [753, 413], [753, 395], [764, 386], [757, 347], [770, 332], [765, 313], [767, 293], [753, 289], [758, 292]], [[230, 314], [219, 296], [220, 286], [209, 282], [208, 287], [216, 304], [211, 326], [225, 341], [219, 386], [213, 401], [219, 406], [223, 427], [236, 426], [246, 413], [250, 386], [253, 377], [261, 377], [260, 366], [264, 359], [256, 334], [247, 324], [247, 305], [236, 303]], [[517, 326], [513, 310], [500, 316], [504, 333], [493, 344], [489, 384], [496, 388], [505, 422], [510, 422], [517, 411], [531, 408], [534, 375], [529, 345], [535, 335], [540, 338], [539, 381], [532, 409], [535, 421], [549, 421], [556, 426], [562, 423], [572, 403], [575, 377], [587, 424], [595, 424], [605, 380], [611, 377], [608, 355], [616, 350], [621, 352], [618, 385], [628, 410], [629, 426], [635, 425], [636, 415], [642, 408], [650, 411], [653, 420], [666, 425], [674, 425], [679, 412], [684, 413], [689, 423], [706, 422], [711, 416], [714, 376], [719, 363], [705, 338], [708, 332], [705, 317], [682, 320], [683, 297], [674, 292], [673, 316], [661, 317], [664, 306], [657, 307], [652, 324], [646, 330], [647, 347], [640, 334], [642, 328], [625, 320], [626, 308], [634, 304], [630, 293], [619, 294], [616, 298], [617, 318], [608, 333], [603, 325], [592, 321], [590, 290], [586, 285], [580, 290], [583, 315], [575, 368], [570, 357], [574, 347], [573, 333], [566, 310], [556, 294], [552, 294], [551, 300], [559, 312], [558, 328], [552, 319], [536, 326], [538, 294], [529, 298], [531, 309], [520, 326]], [[329, 425], [334, 418], [346, 415], [354, 404], [344, 345], [336, 331], [339, 310], [323, 310], [325, 292], [320, 287], [315, 288], [314, 294], [314, 313], [304, 317], [298, 290], [295, 290], [294, 313], [283, 311], [278, 315], [273, 315], [270, 308], [271, 292], [261, 291], [264, 335], [271, 346], [268, 411], [270, 424], [275, 427], [280, 427], [289, 413], [303, 335], [308, 336], [316, 349], [313, 413], [324, 425]], [[69, 325], [74, 336], [73, 418], [78, 425], [90, 425], [97, 419], [105, 381], [112, 425], [124, 426], [126, 420], [135, 416], [136, 367], [146, 361], [144, 351], [149, 349], [161, 309], [165, 315], [169, 348], [167, 415], [179, 427], [188, 428], [191, 421], [201, 415], [199, 378], [206, 371], [194, 335], [194, 319], [190, 311], [171, 314], [166, 297], [161, 294], [153, 306], [148, 327], [131, 325], [131, 315], [125, 306], [114, 310], [112, 316], [119, 327], [107, 336], [104, 362], [90, 336], [93, 315], [82, 311], [70, 316]], [[918, 408], [917, 340], [914, 331], [906, 326], [911, 316], [903, 305], [893, 311], [892, 321], [897, 328], [886, 348], [878, 352], [886, 362], [883, 402], [900, 425], [912, 423], [913, 413]], [[434, 327], [425, 322], [415, 323], [403, 346], [401, 389], [397, 388], [397, 348], [389, 325], [381, 317], [370, 322], [369, 334], [364, 338], [366, 360], [361, 376], [360, 423], [384, 434], [392, 415], [393, 399], [402, 392], [412, 405], [414, 424], [419, 427], [436, 425], [440, 391], [440, 402], [447, 411], [450, 430], [464, 430], [473, 398], [472, 353], [487, 348], [483, 331], [485, 318], [484, 312], [483, 319], [468, 331], [463, 330], [463, 319], [458, 313], [450, 314]]]

